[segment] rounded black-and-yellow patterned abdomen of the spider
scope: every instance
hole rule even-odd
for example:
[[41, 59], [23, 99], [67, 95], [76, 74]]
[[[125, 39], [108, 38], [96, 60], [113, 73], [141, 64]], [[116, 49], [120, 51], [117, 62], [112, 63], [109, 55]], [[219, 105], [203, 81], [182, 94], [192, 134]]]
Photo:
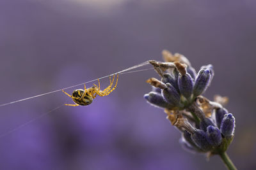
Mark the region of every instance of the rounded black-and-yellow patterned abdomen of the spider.
[[[92, 96], [90, 96], [88, 93], [86, 93], [85, 96], [83, 98], [81, 98], [83, 96], [83, 94], [84, 94], [84, 90], [82, 90], [82, 89], [74, 90], [74, 92], [72, 93], [72, 97], [76, 97], [76, 99], [72, 98], [73, 101], [82, 106], [91, 104], [93, 101]], [[79, 98], [77, 99], [77, 97], [79, 97]]]

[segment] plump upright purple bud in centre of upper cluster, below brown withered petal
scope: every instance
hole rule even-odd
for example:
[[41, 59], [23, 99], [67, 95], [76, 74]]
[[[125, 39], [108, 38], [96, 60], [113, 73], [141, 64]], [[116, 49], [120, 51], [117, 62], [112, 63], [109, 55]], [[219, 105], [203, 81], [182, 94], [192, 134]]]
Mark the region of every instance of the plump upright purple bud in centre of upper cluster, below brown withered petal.
[[193, 92], [193, 80], [191, 76], [188, 73], [184, 75], [179, 74], [178, 85], [180, 94], [189, 98]]

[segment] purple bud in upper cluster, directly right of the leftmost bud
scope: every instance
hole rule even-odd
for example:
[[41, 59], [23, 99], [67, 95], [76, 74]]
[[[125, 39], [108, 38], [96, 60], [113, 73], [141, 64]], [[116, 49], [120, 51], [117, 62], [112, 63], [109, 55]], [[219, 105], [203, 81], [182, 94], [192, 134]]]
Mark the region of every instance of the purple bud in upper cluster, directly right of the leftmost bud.
[[170, 103], [172, 106], [179, 106], [180, 95], [177, 90], [170, 84], [166, 83], [168, 88], [162, 90], [162, 96], [167, 103]]

